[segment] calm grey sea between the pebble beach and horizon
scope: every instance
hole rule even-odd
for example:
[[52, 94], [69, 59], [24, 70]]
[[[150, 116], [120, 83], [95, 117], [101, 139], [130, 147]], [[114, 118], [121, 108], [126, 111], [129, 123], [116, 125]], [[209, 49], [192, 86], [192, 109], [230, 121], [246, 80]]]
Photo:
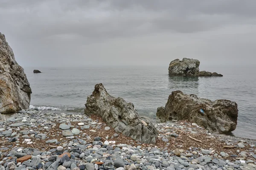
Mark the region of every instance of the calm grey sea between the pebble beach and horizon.
[[[168, 68], [168, 67], [167, 67]], [[233, 135], [256, 139], [256, 73], [251, 68], [203, 68], [224, 77], [169, 77], [166, 67], [125, 68], [24, 68], [32, 88], [31, 107], [49, 110], [83, 111], [94, 85], [102, 82], [108, 93], [134, 103], [137, 111], [156, 119], [169, 94], [187, 94], [237, 102], [239, 118]]]

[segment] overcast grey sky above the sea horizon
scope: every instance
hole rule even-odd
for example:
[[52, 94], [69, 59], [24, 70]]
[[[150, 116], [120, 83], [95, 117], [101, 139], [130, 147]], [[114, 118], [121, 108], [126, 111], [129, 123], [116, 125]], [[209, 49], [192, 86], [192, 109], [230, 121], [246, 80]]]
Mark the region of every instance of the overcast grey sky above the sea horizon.
[[0, 0], [21, 66], [253, 65], [256, 0]]

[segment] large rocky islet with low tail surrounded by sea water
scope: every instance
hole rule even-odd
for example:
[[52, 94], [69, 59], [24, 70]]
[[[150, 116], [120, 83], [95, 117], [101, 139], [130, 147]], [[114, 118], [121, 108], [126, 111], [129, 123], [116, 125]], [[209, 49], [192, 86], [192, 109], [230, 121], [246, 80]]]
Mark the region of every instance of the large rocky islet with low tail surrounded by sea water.
[[202, 77], [221, 77], [218, 73], [199, 71], [200, 61], [198, 59], [183, 58], [173, 60], [169, 65], [170, 76], [202, 76]]

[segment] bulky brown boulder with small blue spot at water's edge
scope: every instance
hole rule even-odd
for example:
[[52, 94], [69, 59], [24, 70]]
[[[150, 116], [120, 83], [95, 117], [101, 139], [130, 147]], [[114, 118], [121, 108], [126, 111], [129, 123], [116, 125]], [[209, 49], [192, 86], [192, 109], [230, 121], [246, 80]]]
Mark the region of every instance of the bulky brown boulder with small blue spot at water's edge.
[[165, 108], [157, 108], [161, 122], [184, 120], [196, 123], [215, 133], [227, 133], [236, 129], [238, 109], [230, 100], [202, 99], [195, 94], [187, 95], [173, 91]]

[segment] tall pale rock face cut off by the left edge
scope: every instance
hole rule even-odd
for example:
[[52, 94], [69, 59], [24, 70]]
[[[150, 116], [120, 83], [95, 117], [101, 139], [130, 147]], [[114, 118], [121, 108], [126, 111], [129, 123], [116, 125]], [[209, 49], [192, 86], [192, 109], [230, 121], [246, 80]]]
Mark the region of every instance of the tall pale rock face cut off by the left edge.
[[0, 33], [0, 113], [29, 108], [31, 93], [23, 68], [15, 61], [12, 48]]

